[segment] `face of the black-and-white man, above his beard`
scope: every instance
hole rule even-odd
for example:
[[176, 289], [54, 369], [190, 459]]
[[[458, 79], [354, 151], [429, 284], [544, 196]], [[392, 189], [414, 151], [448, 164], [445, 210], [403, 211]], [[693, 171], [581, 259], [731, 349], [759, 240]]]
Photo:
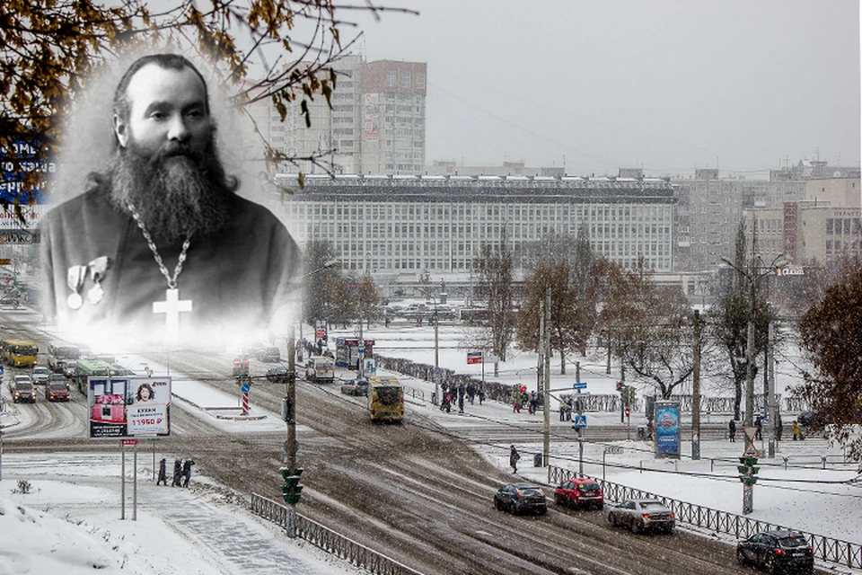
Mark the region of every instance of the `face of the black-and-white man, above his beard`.
[[128, 120], [114, 117], [114, 130], [122, 147], [153, 157], [166, 143], [185, 144], [202, 151], [212, 125], [207, 114], [207, 90], [190, 68], [142, 67], [128, 84]]

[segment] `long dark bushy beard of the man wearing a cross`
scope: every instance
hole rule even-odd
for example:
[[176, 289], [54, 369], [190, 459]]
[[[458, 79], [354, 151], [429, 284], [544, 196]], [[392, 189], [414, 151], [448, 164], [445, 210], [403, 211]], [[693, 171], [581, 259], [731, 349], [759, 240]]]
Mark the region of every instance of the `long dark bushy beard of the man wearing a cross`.
[[201, 152], [167, 141], [149, 157], [130, 141], [111, 175], [113, 203], [127, 212], [134, 206], [154, 240], [170, 244], [221, 229], [237, 187], [225, 175], [212, 139]]

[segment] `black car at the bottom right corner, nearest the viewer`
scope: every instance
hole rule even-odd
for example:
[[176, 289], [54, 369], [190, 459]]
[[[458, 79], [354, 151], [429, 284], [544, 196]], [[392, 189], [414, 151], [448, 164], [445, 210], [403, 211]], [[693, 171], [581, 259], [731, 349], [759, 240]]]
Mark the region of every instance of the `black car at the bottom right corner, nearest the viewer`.
[[789, 529], [761, 531], [736, 544], [736, 560], [770, 573], [814, 572], [814, 548], [805, 535]]

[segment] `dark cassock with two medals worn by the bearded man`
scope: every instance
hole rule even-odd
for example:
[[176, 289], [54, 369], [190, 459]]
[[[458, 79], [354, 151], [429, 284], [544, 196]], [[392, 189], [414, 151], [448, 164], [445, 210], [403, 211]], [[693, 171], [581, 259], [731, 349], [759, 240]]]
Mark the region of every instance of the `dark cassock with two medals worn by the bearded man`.
[[[296, 291], [290, 282], [301, 259], [286, 227], [247, 199], [234, 195], [229, 202], [223, 229], [190, 239], [177, 281], [180, 302], [191, 302], [191, 311], [179, 314], [184, 339], [263, 331]], [[104, 188], [52, 209], [41, 242], [48, 322], [164, 337], [167, 314], [154, 313], [154, 303], [165, 301], [167, 279], [135, 220], [110, 203]], [[181, 243], [156, 247], [173, 275]]]

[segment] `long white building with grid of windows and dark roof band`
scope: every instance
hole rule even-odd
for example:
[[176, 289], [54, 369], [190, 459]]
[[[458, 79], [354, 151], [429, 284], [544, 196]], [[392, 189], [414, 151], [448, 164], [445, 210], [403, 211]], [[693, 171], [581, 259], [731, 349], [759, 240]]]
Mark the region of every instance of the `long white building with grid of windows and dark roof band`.
[[347, 273], [380, 279], [469, 273], [482, 244], [503, 237], [523, 270], [542, 239], [582, 226], [611, 261], [633, 268], [643, 257], [666, 273], [675, 200], [660, 179], [353, 175], [309, 176], [279, 209], [300, 243], [330, 242]]

